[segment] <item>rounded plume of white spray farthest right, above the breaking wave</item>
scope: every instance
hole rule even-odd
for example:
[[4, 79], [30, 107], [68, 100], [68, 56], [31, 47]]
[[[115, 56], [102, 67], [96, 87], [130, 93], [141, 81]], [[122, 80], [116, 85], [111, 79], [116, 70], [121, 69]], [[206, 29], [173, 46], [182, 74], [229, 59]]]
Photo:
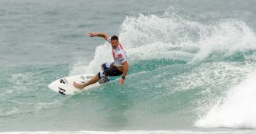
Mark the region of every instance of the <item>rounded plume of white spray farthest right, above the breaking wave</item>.
[[214, 53], [220, 53], [221, 57], [229, 57], [237, 52], [256, 49], [254, 32], [244, 22], [220, 21], [217, 25], [208, 26], [205, 32], [201, 34], [201, 39], [197, 43], [199, 53], [192, 62], [205, 60]]

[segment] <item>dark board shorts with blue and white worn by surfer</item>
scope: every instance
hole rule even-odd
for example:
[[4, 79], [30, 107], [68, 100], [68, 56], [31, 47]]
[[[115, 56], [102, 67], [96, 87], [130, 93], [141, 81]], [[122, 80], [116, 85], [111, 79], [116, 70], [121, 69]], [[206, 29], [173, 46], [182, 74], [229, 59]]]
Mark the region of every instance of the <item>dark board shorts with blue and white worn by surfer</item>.
[[121, 72], [120, 70], [118, 70], [116, 67], [113, 66], [114, 63], [105, 63], [102, 64], [103, 70], [101, 72], [98, 73], [98, 77], [99, 79], [105, 76], [119, 76], [122, 75], [123, 72]]

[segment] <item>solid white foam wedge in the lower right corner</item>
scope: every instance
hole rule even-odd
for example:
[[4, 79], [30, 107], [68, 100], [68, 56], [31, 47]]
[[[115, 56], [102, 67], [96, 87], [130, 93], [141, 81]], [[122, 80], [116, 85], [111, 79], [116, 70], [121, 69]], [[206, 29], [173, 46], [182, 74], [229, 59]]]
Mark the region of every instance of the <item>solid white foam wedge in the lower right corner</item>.
[[198, 127], [256, 128], [256, 71], [231, 88], [227, 98], [218, 101], [195, 122]]

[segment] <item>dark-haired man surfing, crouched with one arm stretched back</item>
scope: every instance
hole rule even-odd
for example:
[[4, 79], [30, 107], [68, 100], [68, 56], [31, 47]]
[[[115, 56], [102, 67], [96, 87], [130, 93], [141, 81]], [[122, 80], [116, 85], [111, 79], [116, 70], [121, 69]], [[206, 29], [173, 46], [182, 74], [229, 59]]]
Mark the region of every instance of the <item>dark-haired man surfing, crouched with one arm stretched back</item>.
[[106, 33], [88, 33], [88, 36], [99, 36], [111, 43], [114, 62], [102, 64], [102, 71], [96, 74], [95, 77], [85, 84], [78, 84], [74, 82], [74, 87], [82, 90], [90, 84], [95, 84], [102, 77], [119, 75], [122, 75], [122, 77], [119, 79], [119, 84], [123, 86], [126, 74], [129, 70], [129, 64], [127, 62], [126, 52], [123, 50], [123, 46], [119, 43], [118, 36], [109, 37], [106, 35]]

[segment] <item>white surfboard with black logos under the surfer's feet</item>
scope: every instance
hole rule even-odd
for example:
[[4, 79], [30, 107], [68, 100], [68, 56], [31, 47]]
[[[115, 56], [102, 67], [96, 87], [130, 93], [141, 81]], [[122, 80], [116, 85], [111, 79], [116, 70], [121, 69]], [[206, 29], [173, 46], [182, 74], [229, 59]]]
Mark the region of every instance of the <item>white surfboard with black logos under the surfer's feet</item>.
[[[89, 85], [88, 87], [85, 87], [83, 90], [80, 90], [78, 88], [74, 87], [74, 82], [78, 84], [84, 84], [87, 81], [90, 81], [92, 77], [94, 77], [95, 74], [83, 74], [83, 75], [75, 75], [71, 77], [63, 77], [61, 79], [58, 79], [51, 84], [48, 85], [48, 87], [60, 94], [78, 94], [82, 91], [86, 91], [90, 88], [94, 88], [99, 86], [100, 84], [104, 84], [109, 81], [109, 77], [104, 77], [104, 79], [100, 79], [99, 82]], [[106, 79], [105, 79], [106, 78]]]

